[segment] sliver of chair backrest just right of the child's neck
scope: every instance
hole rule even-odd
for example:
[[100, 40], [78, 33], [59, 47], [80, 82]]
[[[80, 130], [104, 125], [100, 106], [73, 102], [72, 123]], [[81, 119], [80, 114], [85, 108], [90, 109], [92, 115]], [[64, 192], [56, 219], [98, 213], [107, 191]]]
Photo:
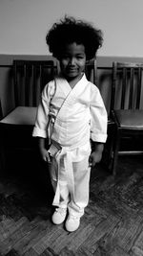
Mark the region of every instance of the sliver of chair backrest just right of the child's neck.
[[87, 79], [89, 81], [92, 81], [96, 86], [97, 84], [97, 62], [96, 59], [92, 59], [86, 63], [85, 73], [87, 76]]

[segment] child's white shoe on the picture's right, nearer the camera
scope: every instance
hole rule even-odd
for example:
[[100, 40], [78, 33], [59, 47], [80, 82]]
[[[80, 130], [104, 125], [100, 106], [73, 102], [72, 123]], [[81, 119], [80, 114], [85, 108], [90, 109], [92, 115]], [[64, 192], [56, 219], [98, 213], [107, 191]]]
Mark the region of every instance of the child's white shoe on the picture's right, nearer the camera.
[[66, 221], [66, 229], [69, 232], [75, 231], [80, 225], [80, 216], [75, 215], [69, 215], [67, 221]]

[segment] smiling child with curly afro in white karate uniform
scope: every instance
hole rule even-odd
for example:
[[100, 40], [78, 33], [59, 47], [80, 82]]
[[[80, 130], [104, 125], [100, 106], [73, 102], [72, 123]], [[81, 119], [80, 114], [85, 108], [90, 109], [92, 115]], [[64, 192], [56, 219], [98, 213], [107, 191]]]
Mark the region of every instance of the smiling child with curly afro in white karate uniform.
[[65, 17], [53, 24], [47, 44], [59, 60], [61, 73], [42, 92], [32, 135], [39, 137], [42, 158], [51, 161], [56, 206], [52, 221], [66, 220], [66, 229], [72, 232], [88, 205], [91, 167], [101, 160], [107, 138], [105, 106], [84, 73], [86, 61], [102, 44], [102, 35], [89, 23]]

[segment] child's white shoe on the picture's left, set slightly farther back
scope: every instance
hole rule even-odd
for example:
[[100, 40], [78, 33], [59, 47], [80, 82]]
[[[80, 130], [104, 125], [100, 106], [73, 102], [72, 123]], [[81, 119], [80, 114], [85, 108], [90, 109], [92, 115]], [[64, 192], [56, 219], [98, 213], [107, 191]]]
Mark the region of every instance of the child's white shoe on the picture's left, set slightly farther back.
[[63, 221], [65, 221], [67, 215], [67, 208], [56, 208], [51, 220], [54, 224], [58, 225], [61, 224]]

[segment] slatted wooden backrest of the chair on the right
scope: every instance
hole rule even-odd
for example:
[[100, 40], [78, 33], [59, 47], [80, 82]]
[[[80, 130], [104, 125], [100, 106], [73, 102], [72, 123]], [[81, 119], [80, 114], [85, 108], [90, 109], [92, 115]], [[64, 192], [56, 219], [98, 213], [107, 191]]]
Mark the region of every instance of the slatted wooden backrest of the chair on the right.
[[112, 109], [140, 108], [143, 63], [112, 62]]

